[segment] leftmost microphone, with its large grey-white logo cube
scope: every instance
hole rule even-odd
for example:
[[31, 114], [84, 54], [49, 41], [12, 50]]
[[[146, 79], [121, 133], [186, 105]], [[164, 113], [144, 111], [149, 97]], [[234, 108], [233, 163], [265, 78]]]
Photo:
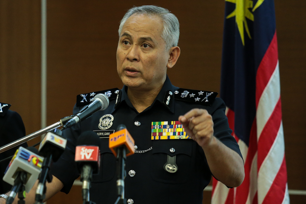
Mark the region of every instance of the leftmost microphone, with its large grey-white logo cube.
[[41, 172], [43, 157], [38, 155], [34, 147], [28, 147], [28, 149], [19, 147], [6, 168], [3, 180], [13, 185], [6, 201], [7, 204], [14, 201], [17, 192], [26, 191], [28, 193]]

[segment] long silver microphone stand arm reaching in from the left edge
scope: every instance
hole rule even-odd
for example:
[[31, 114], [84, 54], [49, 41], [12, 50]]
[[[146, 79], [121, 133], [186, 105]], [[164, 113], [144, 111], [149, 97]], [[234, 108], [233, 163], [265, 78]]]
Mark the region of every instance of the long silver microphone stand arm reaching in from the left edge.
[[25, 142], [29, 141], [30, 139], [33, 139], [33, 138], [35, 138], [35, 137], [37, 137], [39, 135], [43, 135], [43, 134], [45, 134], [45, 133], [47, 133], [47, 132], [49, 132], [51, 130], [54, 130], [55, 128], [62, 127], [71, 118], [73, 118], [73, 116], [64, 117], [60, 121], [58, 121], [57, 123], [49, 125], [46, 128], [40, 129], [40, 130], [38, 130], [36, 132], [33, 132], [30, 135], [24, 136], [24, 137], [22, 137], [20, 139], [15, 140], [14, 142], [11, 142], [11, 143], [9, 143], [7, 145], [4, 145], [4, 146], [2, 146], [0, 148], [0, 153], [5, 152], [6, 150], [12, 149], [14, 147], [17, 147], [18, 145], [20, 145], [22, 143], [25, 143]]

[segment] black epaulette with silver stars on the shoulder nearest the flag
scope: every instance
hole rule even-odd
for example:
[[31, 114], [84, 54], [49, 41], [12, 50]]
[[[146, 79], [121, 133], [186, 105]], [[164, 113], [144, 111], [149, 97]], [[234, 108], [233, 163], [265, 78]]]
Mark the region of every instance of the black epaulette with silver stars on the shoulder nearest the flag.
[[192, 89], [179, 88], [174, 91], [174, 98], [180, 101], [186, 101], [195, 104], [201, 104], [204, 106], [211, 106], [215, 101], [217, 92], [212, 91], [200, 91]]

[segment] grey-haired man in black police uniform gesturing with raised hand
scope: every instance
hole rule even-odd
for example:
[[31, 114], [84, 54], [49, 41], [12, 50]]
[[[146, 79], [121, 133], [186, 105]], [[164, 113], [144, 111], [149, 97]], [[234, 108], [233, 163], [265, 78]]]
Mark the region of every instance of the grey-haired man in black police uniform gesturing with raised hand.
[[[74, 114], [98, 93], [105, 93], [110, 105], [63, 131], [68, 143], [52, 166], [47, 199], [69, 192], [79, 176], [76, 139], [93, 130], [101, 138], [101, 168], [93, 176], [90, 199], [97, 204], [116, 201], [115, 157], [107, 137], [119, 124], [126, 125], [138, 151], [126, 160], [128, 203], [200, 204], [211, 175], [229, 187], [239, 186], [244, 162], [230, 135], [224, 102], [215, 92], [174, 87], [166, 74], [180, 56], [175, 15], [158, 6], [134, 7], [118, 32], [117, 71], [124, 87], [77, 96]], [[27, 195], [33, 203], [35, 189]]]

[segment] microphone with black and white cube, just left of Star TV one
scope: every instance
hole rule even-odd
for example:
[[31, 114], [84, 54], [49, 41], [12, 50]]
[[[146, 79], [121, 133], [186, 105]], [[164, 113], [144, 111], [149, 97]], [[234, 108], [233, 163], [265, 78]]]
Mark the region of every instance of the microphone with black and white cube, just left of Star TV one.
[[67, 140], [62, 138], [62, 131], [54, 129], [46, 134], [39, 145], [39, 154], [44, 156], [45, 159], [42, 165], [42, 172], [39, 175], [39, 183], [36, 188], [35, 204], [42, 203], [45, 193], [46, 181], [52, 181], [50, 174], [50, 166], [52, 161], [57, 161], [64, 152]]

